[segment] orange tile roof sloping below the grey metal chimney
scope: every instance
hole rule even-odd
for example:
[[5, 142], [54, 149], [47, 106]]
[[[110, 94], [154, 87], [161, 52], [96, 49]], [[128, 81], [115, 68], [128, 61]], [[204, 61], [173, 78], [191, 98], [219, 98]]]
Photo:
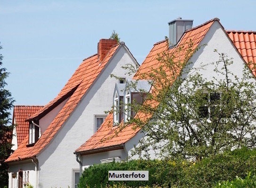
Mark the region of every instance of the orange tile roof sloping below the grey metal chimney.
[[[184, 46], [182, 51], [179, 51], [177, 58], [184, 58], [186, 53], [186, 49], [188, 49], [188, 42], [190, 39], [193, 42], [192, 49], [196, 49], [198, 44], [205, 36], [206, 32], [209, 30], [210, 26], [214, 23], [214, 21], [218, 21], [218, 18], [212, 19], [205, 24], [199, 25], [191, 30], [185, 31], [182, 38], [180, 39], [179, 43], [176, 47], [173, 47], [169, 50], [170, 53], [177, 52], [178, 48]], [[144, 62], [140, 65], [139, 70], [134, 75], [135, 79], [140, 78], [143, 73], [149, 73], [152, 68], [157, 69], [160, 63], [157, 60], [159, 54], [166, 52], [168, 49], [166, 45], [166, 40], [157, 42], [154, 44], [153, 48], [150, 50], [149, 55], [147, 55]], [[157, 105], [157, 104], [156, 104]], [[148, 119], [150, 115], [145, 115], [139, 113], [138, 116], [140, 119]], [[123, 126], [123, 122], [120, 123], [120, 127]], [[117, 126], [113, 127], [113, 115], [109, 114], [99, 130], [94, 133], [89, 140], [87, 140], [83, 145], [81, 145], [75, 152], [84, 153], [87, 151], [88, 154], [95, 152], [96, 149], [107, 148], [110, 146], [124, 144], [126, 141], [130, 140], [140, 128], [133, 129], [132, 125], [125, 125], [124, 128], [119, 130]]]

